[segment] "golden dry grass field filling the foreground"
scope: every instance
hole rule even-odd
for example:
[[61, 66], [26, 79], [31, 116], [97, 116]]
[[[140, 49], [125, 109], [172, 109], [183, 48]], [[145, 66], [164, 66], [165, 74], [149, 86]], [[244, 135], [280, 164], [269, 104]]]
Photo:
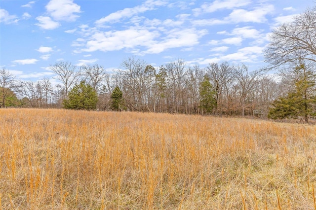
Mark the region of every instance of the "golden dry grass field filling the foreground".
[[0, 109], [0, 209], [316, 209], [316, 127]]

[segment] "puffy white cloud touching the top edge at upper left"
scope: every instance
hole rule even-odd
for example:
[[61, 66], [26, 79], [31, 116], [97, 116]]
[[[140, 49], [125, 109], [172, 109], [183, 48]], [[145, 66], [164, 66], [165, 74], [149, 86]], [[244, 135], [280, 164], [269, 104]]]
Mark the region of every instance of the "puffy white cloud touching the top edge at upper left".
[[73, 22], [79, 18], [80, 6], [73, 0], [50, 0], [46, 5], [46, 10], [54, 20]]

